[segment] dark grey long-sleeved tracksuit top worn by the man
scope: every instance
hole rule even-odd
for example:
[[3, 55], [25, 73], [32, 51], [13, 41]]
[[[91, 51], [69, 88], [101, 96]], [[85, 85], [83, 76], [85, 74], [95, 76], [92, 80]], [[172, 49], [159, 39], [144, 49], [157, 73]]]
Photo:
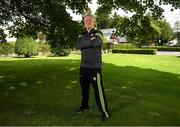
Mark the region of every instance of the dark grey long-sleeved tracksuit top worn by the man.
[[[102, 40], [96, 34], [102, 35], [100, 31], [92, 29], [90, 33], [83, 33], [75, 48], [81, 49], [81, 67], [84, 68], [101, 68], [102, 57], [101, 57], [101, 47]], [[96, 37], [95, 40], [90, 40], [92, 37]]]

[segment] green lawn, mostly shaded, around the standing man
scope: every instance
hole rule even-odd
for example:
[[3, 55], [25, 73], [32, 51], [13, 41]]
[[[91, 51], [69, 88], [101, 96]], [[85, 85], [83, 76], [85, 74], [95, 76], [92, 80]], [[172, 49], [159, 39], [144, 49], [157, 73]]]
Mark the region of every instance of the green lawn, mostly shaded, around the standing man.
[[80, 103], [80, 56], [0, 58], [2, 125], [180, 125], [180, 57], [103, 55], [112, 117], [102, 122], [93, 89]]

